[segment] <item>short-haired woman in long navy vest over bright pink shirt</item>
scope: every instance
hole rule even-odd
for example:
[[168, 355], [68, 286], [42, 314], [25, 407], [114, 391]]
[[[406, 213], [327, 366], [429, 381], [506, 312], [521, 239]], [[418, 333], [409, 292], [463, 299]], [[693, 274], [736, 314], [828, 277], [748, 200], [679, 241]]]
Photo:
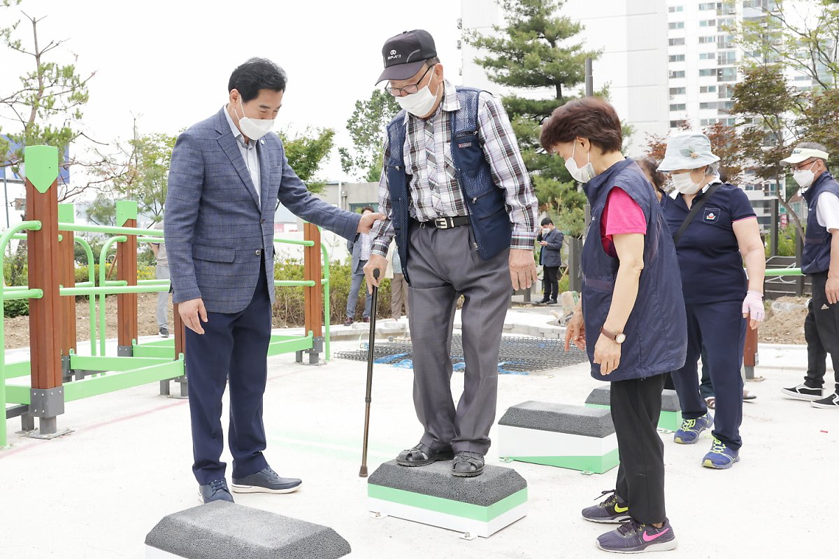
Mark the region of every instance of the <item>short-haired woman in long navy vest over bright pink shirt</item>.
[[638, 165], [621, 154], [622, 139], [614, 108], [586, 97], [553, 112], [541, 144], [565, 159], [591, 204], [581, 304], [565, 348], [574, 342], [586, 349], [591, 376], [612, 383], [620, 454], [616, 488], [582, 515], [623, 522], [597, 538], [604, 551], [665, 551], [676, 540], [664, 511], [664, 444], [656, 427], [664, 373], [685, 363], [685, 303], [659, 201]]

